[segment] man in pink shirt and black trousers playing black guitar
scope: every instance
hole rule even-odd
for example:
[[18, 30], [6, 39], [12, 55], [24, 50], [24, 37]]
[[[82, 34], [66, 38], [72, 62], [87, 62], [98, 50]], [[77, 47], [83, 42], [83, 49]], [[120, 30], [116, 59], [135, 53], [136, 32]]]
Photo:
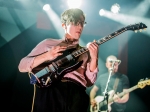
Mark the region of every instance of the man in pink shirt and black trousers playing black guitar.
[[[97, 77], [98, 45], [91, 42], [87, 46], [89, 52], [79, 57], [78, 53], [74, 53], [80, 49], [80, 35], [86, 24], [85, 14], [81, 9], [64, 11], [61, 22], [63, 39], [43, 40], [21, 59], [18, 66], [20, 72], [32, 73], [38, 80], [38, 87], [41, 86], [36, 86], [32, 106], [34, 112], [86, 112], [89, 105], [89, 96], [85, 90], [94, 84]], [[76, 63], [69, 66], [74, 61]], [[59, 68], [63, 70], [59, 71]], [[45, 72], [48, 73], [40, 77]], [[51, 84], [58, 77], [61, 77], [60, 80]]]

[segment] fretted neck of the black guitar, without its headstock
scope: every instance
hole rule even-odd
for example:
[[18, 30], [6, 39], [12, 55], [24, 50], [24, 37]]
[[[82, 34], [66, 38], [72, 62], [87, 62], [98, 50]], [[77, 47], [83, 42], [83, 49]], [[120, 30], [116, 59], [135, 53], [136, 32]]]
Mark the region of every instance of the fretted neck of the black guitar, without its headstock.
[[[103, 37], [103, 38], [97, 40], [96, 43], [97, 43], [98, 45], [101, 45], [101, 44], [107, 42], [108, 40], [110, 40], [110, 39], [116, 37], [117, 35], [119, 35], [119, 34], [125, 32], [125, 31], [127, 31], [126, 28], [121, 28], [121, 29], [115, 31], [114, 33], [109, 34], [108, 36], [105, 36], [105, 37]], [[81, 49], [79, 49], [79, 50], [73, 52], [72, 55], [75, 56], [75, 57], [78, 57], [78, 56], [80, 56], [81, 54], [83, 54], [83, 53], [85, 53], [85, 52], [87, 52], [87, 51], [88, 51], [88, 48], [83, 47], [83, 48], [81, 48]]]

